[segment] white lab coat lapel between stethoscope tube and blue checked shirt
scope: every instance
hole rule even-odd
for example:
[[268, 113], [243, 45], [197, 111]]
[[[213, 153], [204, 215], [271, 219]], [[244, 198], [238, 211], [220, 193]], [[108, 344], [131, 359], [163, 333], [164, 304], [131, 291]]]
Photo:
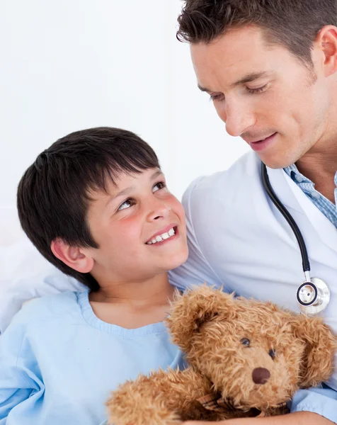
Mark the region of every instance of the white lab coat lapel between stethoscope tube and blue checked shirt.
[[[285, 207], [302, 212], [312, 223], [321, 241], [337, 252], [337, 229], [312, 203], [307, 195], [290, 179], [283, 169], [267, 167], [271, 186]], [[292, 214], [292, 211], [290, 210]]]

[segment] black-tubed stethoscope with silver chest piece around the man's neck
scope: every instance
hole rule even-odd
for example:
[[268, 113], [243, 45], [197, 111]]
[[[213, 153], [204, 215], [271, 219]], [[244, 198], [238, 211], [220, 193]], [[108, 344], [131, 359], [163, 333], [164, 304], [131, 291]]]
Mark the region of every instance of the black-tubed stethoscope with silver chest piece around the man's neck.
[[329, 286], [326, 285], [324, 280], [319, 278], [312, 278], [310, 276], [309, 256], [302, 233], [299, 230], [295, 220], [292, 218], [292, 215], [290, 215], [290, 212], [287, 210], [287, 208], [285, 208], [285, 206], [281, 203], [273, 191], [273, 188], [270, 185], [267, 167], [265, 164], [263, 164], [263, 162], [261, 163], [261, 178], [265, 192], [268, 193], [268, 196], [273, 201], [275, 207], [278, 208], [282, 216], [285, 217], [285, 220], [287, 220], [289, 223], [290, 227], [292, 228], [292, 232], [294, 232], [299, 244], [305, 278], [304, 282], [299, 285], [296, 294], [297, 302], [299, 303], [299, 309], [302, 313], [307, 314], [308, 316], [319, 314], [329, 305]]

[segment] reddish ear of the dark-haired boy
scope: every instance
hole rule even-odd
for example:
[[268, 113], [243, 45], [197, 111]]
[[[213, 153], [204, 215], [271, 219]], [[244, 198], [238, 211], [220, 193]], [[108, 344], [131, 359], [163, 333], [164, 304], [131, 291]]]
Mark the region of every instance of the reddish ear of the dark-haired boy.
[[62, 239], [55, 239], [50, 244], [52, 254], [67, 266], [74, 268], [80, 273], [89, 273], [93, 268], [93, 258], [84, 254], [84, 250], [78, 246], [70, 246]]

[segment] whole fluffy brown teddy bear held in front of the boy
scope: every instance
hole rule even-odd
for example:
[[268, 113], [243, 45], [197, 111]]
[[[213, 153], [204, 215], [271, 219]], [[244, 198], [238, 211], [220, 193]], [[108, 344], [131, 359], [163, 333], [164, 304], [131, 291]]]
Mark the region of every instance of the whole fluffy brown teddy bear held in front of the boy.
[[115, 425], [275, 416], [299, 388], [329, 380], [336, 336], [319, 317], [202, 285], [177, 294], [167, 318], [185, 370], [139, 375], [107, 402]]

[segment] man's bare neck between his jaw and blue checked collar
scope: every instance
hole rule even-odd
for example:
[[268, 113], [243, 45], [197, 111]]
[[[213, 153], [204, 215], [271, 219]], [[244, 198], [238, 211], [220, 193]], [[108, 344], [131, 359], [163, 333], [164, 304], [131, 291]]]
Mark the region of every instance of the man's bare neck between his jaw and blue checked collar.
[[324, 153], [307, 152], [296, 162], [296, 166], [301, 174], [314, 183], [316, 191], [332, 203], [336, 202], [334, 178], [337, 171], [337, 141]]

